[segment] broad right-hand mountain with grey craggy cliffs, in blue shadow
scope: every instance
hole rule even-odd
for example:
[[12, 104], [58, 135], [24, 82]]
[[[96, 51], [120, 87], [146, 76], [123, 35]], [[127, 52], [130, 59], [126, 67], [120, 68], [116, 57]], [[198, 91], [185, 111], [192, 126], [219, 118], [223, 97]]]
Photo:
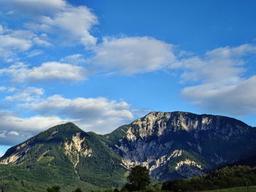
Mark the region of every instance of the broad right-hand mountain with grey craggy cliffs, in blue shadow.
[[111, 147], [124, 166], [146, 166], [160, 181], [203, 174], [256, 147], [255, 128], [223, 116], [150, 112], [119, 129], [123, 134]]

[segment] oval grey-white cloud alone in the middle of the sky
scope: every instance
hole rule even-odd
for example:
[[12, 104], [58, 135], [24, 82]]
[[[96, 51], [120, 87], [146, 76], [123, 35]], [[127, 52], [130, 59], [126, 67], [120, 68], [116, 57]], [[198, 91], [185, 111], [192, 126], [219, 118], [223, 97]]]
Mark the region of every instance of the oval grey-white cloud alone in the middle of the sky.
[[127, 75], [165, 69], [176, 61], [173, 45], [152, 37], [105, 38], [94, 52], [92, 64]]

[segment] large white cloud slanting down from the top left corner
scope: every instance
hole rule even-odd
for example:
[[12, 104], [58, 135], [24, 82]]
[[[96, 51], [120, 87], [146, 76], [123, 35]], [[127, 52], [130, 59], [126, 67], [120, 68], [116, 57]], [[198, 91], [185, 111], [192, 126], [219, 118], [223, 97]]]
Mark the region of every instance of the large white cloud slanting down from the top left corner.
[[[61, 42], [67, 44], [78, 42], [91, 47], [97, 42], [97, 38], [91, 35], [91, 29], [98, 24], [97, 16], [88, 7], [75, 7], [63, 0], [10, 0], [2, 3], [7, 4], [13, 14], [29, 18], [24, 26], [31, 31], [44, 31], [57, 39], [61, 37]], [[40, 39], [35, 40], [43, 43]]]

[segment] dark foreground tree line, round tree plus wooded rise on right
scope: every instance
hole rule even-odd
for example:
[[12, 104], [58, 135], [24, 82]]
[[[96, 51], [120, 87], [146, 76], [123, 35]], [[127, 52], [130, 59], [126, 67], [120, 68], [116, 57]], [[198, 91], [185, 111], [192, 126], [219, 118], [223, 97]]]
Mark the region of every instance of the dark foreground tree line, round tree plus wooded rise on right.
[[[198, 177], [169, 180], [156, 185], [151, 185], [149, 170], [145, 166], [135, 166], [131, 169], [127, 180], [128, 183], [122, 188], [105, 190], [103, 192], [192, 192], [256, 185], [256, 166], [226, 166]], [[59, 186], [53, 186], [48, 188], [47, 192], [59, 192], [59, 190]], [[83, 191], [77, 188], [73, 192]]]

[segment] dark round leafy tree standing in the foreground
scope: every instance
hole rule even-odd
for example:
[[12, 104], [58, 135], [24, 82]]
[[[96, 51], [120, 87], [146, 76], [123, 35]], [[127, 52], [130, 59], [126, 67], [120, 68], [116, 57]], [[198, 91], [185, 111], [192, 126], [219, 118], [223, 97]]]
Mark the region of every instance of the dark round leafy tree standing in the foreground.
[[129, 183], [124, 185], [124, 188], [127, 188], [128, 191], [140, 191], [146, 189], [151, 183], [149, 170], [146, 166], [132, 167], [127, 179], [129, 180]]

